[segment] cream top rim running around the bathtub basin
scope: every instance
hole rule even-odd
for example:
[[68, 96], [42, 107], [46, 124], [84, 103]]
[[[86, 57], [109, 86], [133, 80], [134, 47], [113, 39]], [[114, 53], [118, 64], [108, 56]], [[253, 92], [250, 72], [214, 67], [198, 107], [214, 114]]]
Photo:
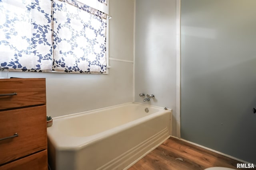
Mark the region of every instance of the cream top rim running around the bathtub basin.
[[[53, 119], [61, 119], [61, 118], [67, 118], [67, 117], [76, 117], [76, 116], [79, 116], [79, 115], [91, 114], [90, 112], [100, 111], [100, 110], [109, 109], [109, 108], [113, 108], [113, 107], [120, 107], [120, 106], [124, 106], [124, 105], [128, 105], [128, 104], [139, 104], [139, 105], [142, 105], [142, 106], [156, 107], [158, 109], [163, 109], [162, 110], [163, 112], [162, 113], [158, 113], [159, 111], [157, 111], [156, 113], [152, 113], [150, 115], [147, 115], [146, 119], [144, 117], [141, 117], [141, 118], [136, 119], [134, 121], [125, 123], [125, 124], [120, 125], [118, 127], [114, 127], [112, 129], [108, 129], [106, 131], [102, 131], [100, 133], [97, 133], [95, 135], [91, 135], [91, 136], [88, 136], [88, 137], [68, 137], [67, 141], [69, 142], [69, 144], [70, 144], [70, 142], [72, 142], [72, 139], [76, 139], [76, 142], [77, 142], [77, 139], [81, 139], [83, 141], [82, 143], [81, 142], [80, 143], [77, 142], [76, 144], [72, 143], [73, 144], [72, 146], [71, 145], [67, 145], [67, 144], [66, 145], [63, 145], [63, 144], [60, 145], [58, 143], [58, 140], [56, 140], [56, 138], [54, 139], [54, 137], [52, 137], [53, 135], [55, 135], [54, 134], [55, 132], [49, 132], [48, 133], [49, 134], [49, 135], [47, 135], [48, 138], [49, 138], [48, 140], [50, 140], [49, 142], [52, 145], [54, 145], [54, 147], [56, 149], [58, 149], [59, 151], [76, 151], [76, 150], [83, 149], [84, 147], [87, 147], [89, 145], [92, 145], [92, 144], [96, 143], [99, 140], [105, 139], [106, 137], [109, 137], [110, 135], [115, 135], [116, 133], [120, 133], [120, 132], [122, 132], [122, 131], [130, 128], [130, 127], [136, 126], [136, 125], [138, 125], [140, 123], [149, 121], [151, 119], [154, 119], [155, 117], [158, 117], [160, 115], [166, 114], [167, 111], [170, 114], [170, 121], [171, 121], [172, 109], [165, 110], [164, 107], [151, 106], [151, 105], [141, 104], [141, 103], [137, 103], [137, 102], [129, 102], [129, 103], [125, 103], [125, 104], [119, 104], [119, 105], [115, 105], [115, 106], [109, 106], [109, 107], [104, 107], [104, 108], [100, 108], [100, 109], [94, 109], [94, 110], [90, 110], [90, 111], [84, 111], [84, 112], [80, 112], [80, 113], [74, 113], [74, 114], [70, 114], [70, 115], [54, 117]], [[53, 128], [53, 127], [48, 127], [48, 128], [49, 128], [49, 131], [50, 131], [50, 129]], [[169, 128], [170, 128], [170, 131], [171, 131], [171, 125], [170, 125]], [[61, 136], [62, 134], [57, 134], [57, 135]], [[92, 139], [90, 139], [90, 138], [92, 138]]]

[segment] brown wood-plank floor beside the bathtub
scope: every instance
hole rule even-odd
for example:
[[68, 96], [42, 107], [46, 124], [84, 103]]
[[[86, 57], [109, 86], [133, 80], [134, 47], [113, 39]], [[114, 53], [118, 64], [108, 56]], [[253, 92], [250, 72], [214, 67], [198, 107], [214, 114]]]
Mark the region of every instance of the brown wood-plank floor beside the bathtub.
[[128, 170], [204, 170], [212, 166], [236, 168], [241, 163], [170, 137]]

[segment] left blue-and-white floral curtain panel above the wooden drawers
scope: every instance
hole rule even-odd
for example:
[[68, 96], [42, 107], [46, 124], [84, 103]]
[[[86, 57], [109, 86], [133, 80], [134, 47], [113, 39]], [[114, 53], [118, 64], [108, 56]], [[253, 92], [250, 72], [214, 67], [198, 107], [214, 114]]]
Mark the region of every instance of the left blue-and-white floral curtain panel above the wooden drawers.
[[0, 67], [52, 70], [50, 0], [0, 0]]

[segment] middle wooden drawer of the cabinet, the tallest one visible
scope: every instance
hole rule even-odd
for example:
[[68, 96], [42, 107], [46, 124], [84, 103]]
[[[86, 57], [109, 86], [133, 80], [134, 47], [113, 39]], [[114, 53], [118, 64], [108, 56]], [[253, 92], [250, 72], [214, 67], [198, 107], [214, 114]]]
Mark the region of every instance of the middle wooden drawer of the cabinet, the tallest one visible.
[[0, 112], [0, 164], [46, 149], [46, 106]]

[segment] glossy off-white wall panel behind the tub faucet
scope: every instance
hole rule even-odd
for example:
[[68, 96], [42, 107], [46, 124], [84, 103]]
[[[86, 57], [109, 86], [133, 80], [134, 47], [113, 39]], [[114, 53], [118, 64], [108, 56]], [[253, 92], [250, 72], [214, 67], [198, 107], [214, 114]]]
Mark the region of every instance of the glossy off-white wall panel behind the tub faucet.
[[176, 135], [176, 0], [136, 0], [135, 37], [135, 102], [173, 109]]

